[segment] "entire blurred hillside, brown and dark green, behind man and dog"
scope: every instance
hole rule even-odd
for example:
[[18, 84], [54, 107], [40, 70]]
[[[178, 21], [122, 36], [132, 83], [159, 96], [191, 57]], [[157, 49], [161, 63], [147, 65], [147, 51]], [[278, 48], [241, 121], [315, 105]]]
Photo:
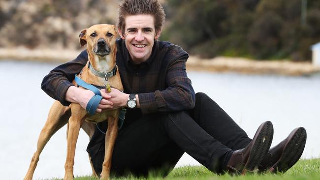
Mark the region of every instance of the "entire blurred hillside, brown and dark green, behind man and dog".
[[[1, 0], [0, 48], [79, 50], [78, 34], [115, 24], [120, 0]], [[161, 40], [188, 53], [253, 60], [311, 60], [320, 41], [319, 0], [160, 0]]]

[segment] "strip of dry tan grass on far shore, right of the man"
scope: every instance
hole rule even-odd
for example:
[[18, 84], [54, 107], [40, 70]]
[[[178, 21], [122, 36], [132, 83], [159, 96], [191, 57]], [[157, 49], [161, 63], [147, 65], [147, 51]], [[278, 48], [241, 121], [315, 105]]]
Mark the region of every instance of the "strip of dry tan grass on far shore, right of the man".
[[289, 60], [249, 60], [230, 57], [216, 57], [207, 60], [190, 57], [187, 61], [187, 69], [291, 76], [311, 75], [320, 72], [320, 67], [313, 66], [310, 62], [292, 62]]

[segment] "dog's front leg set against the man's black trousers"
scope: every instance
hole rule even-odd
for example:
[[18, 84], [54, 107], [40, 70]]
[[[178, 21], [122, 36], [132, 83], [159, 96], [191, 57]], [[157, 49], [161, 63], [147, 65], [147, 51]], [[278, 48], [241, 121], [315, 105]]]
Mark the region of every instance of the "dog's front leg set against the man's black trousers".
[[105, 134], [105, 152], [100, 180], [108, 180], [110, 176], [111, 160], [114, 144], [118, 136], [118, 117], [108, 117], [108, 129]]

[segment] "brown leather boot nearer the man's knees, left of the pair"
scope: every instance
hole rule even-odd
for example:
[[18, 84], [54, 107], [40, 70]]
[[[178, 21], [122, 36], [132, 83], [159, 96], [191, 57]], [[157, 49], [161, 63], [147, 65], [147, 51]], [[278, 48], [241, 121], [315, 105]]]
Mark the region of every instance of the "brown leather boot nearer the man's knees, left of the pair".
[[227, 172], [231, 174], [245, 174], [248, 171], [254, 172], [269, 150], [272, 138], [272, 123], [265, 121], [259, 126], [254, 138], [246, 148], [232, 153], [226, 166]]

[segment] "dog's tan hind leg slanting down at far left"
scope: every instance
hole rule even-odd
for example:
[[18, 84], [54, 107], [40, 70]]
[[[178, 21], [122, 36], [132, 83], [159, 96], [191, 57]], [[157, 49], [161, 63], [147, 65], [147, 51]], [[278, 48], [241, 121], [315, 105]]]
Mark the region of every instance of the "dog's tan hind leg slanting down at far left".
[[37, 142], [37, 149], [33, 154], [28, 172], [24, 180], [32, 180], [32, 176], [39, 161], [41, 151], [48, 143], [52, 135], [67, 123], [70, 117], [70, 112], [70, 109], [64, 107], [58, 101], [53, 104], [48, 115], [48, 120], [46, 121], [44, 127], [40, 132]]

